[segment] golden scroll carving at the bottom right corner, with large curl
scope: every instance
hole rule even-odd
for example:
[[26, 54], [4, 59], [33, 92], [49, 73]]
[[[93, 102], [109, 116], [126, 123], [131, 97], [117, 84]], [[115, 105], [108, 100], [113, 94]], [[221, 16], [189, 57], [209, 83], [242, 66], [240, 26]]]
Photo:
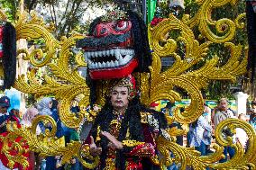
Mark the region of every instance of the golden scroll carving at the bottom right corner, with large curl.
[[[226, 127], [231, 128], [231, 130], [242, 128], [242, 130], [246, 131], [247, 135], [250, 137], [250, 149], [248, 149], [246, 153], [239, 143], [233, 144], [233, 139], [231, 137], [224, 139], [222, 130]], [[200, 153], [193, 148], [184, 148], [173, 141], [158, 138], [158, 149], [160, 155], [164, 156], [164, 158], [159, 161], [159, 164], [161, 169], [164, 169], [165, 165], [171, 165], [172, 162], [181, 163], [180, 169], [186, 169], [186, 166], [192, 166], [194, 169], [206, 169], [206, 167], [213, 169], [248, 169], [248, 166], [255, 166], [255, 135], [255, 130], [253, 130], [251, 125], [245, 121], [237, 119], [222, 121], [215, 130], [217, 143], [214, 145], [215, 153], [209, 156], [200, 156]], [[235, 149], [235, 155], [231, 160], [225, 163], [216, 163], [219, 159], [224, 157], [224, 148], [222, 146], [233, 147]], [[169, 151], [173, 153], [175, 159], [169, 157]], [[156, 164], [158, 164], [158, 162], [156, 162]]]

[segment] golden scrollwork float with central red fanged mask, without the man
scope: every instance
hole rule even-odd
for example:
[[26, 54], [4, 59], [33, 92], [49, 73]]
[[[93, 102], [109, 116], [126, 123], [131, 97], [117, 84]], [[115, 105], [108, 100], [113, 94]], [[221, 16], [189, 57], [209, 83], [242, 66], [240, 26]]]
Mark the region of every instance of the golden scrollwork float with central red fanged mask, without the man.
[[[245, 13], [240, 13], [233, 21], [228, 18], [215, 21], [211, 17], [215, 8], [221, 8], [225, 4], [231, 4], [234, 7], [236, 3], [238, 1], [235, 0], [197, 1], [200, 8], [193, 17], [184, 15], [182, 19], [178, 19], [169, 13], [168, 18], [164, 18], [154, 25], [149, 24], [146, 36], [151, 49], [151, 62], [148, 62], [147, 59], [149, 58], [146, 58], [149, 54], [147, 52], [142, 53], [143, 49], [140, 49], [147, 46], [141, 43], [147, 44], [148, 42], [144, 41], [146, 39], [136, 40], [136, 36], [134, 36], [134, 32], [143, 36], [142, 31], [140, 31], [142, 27], [140, 23], [134, 22], [134, 18], [127, 13], [117, 11], [107, 13], [100, 22], [96, 21], [91, 24], [92, 30], [89, 35], [73, 33], [70, 37], [61, 37], [60, 40], [57, 40], [51, 33], [54, 29], [53, 26], [43, 22], [37, 13], [18, 13], [18, 19], [14, 23], [16, 40], [43, 40], [44, 43], [43, 46], [32, 49], [32, 51], [18, 49], [17, 54], [23, 54], [23, 60], [29, 61], [34, 68], [48, 67], [50, 75], [43, 75], [41, 77], [43, 82], [40, 82], [35, 76], [35, 69], [32, 69], [27, 75], [17, 77], [14, 88], [25, 94], [54, 95], [61, 103], [59, 108], [61, 121], [69, 128], [79, 129], [84, 121], [94, 122], [97, 112], [81, 109], [78, 115], [74, 115], [69, 108], [72, 100], [79, 96], [81, 100], [78, 104], [81, 108], [87, 107], [92, 101], [94, 104], [103, 105], [105, 103], [103, 94], [109, 88], [108, 79], [116, 78], [116, 75], [122, 77], [127, 76], [127, 73], [133, 74], [140, 88], [141, 102], [145, 105], [150, 105], [161, 99], [169, 100], [172, 103], [180, 101], [181, 95], [176, 89], [186, 91], [191, 99], [190, 105], [185, 108], [184, 112], [179, 112], [177, 108], [173, 117], [167, 115], [169, 124], [178, 121], [186, 127], [187, 124], [196, 121], [202, 114], [204, 105], [202, 90], [211, 81], [235, 81], [237, 76], [246, 72], [247, 47], [232, 42], [236, 31], [245, 26]], [[1, 13], [1, 16], [4, 16], [3, 11]], [[115, 32], [107, 32], [107, 29], [107, 31], [102, 29], [104, 27], [98, 30], [101, 22], [113, 21], [123, 21], [123, 23], [115, 25]], [[200, 31], [200, 40], [195, 37], [193, 32], [195, 28]], [[129, 29], [129, 33], [124, 29]], [[178, 38], [174, 39], [170, 36], [169, 32], [172, 31], [178, 32]], [[105, 37], [109, 34], [118, 35], [118, 37]], [[117, 40], [123, 46], [115, 46], [113, 49], [113, 46], [111, 47], [106, 43], [112, 39]], [[123, 39], [125, 39], [125, 43], [122, 43]], [[184, 56], [180, 56], [178, 53], [178, 42], [182, 42], [184, 46]], [[218, 65], [218, 56], [206, 59], [212, 43], [224, 44], [224, 47], [230, 51], [227, 62], [222, 66]], [[80, 49], [76, 49], [76, 47]], [[101, 49], [102, 47], [104, 48]], [[123, 50], [128, 47], [129, 50]], [[101, 52], [96, 53], [91, 51], [92, 49]], [[104, 66], [102, 62], [101, 64], [98, 63], [100, 57], [106, 58]], [[171, 67], [162, 71], [161, 58], [165, 57], [172, 57], [175, 62]], [[75, 67], [69, 66], [70, 58], [75, 58]], [[142, 67], [140, 58], [145, 59], [143, 60], [145, 66], [148, 63], [151, 65]], [[194, 67], [198, 63], [200, 63], [200, 67]], [[87, 81], [87, 77], [79, 74], [80, 67], [88, 67], [88, 74], [93, 81]], [[145, 69], [141, 69], [141, 67]], [[95, 89], [91, 88], [91, 82], [96, 83]], [[95, 97], [92, 98], [92, 94]], [[44, 134], [36, 135], [36, 127], [41, 121], [50, 122], [53, 128], [46, 130]], [[222, 136], [222, 130], [227, 127], [233, 132], [236, 128], [245, 130], [250, 142], [246, 152], [239, 143], [233, 143], [231, 138]], [[215, 152], [209, 156], [200, 156], [195, 148], [185, 148], [176, 143], [176, 136], [185, 135], [186, 130], [171, 128], [166, 129], [166, 131], [169, 133], [170, 139], [161, 136], [155, 139], [159, 155], [151, 157], [151, 162], [160, 166], [161, 169], [173, 162], [180, 163], [181, 169], [186, 169], [187, 166], [191, 166], [193, 169], [206, 169], [206, 167], [247, 169], [249, 166], [251, 169], [255, 169], [256, 167], [256, 134], [247, 122], [237, 119], [222, 121], [215, 130]], [[5, 142], [3, 148], [5, 148], [4, 153], [9, 160], [9, 166], [13, 167], [16, 162], [22, 163], [24, 168], [28, 166], [25, 157], [23, 157], [23, 154], [28, 151], [28, 149], [23, 149], [24, 141], [29, 145], [29, 150], [39, 153], [41, 157], [62, 156], [62, 164], [69, 162], [71, 157], [78, 157], [82, 165], [89, 169], [93, 169], [99, 164], [100, 158], [92, 157], [88, 145], [84, 145], [80, 141], [73, 141], [66, 147], [59, 146], [55, 132], [56, 122], [49, 116], [36, 117], [32, 121], [32, 128], [30, 129], [18, 127], [15, 123], [10, 124], [8, 138], [5, 140], [17, 136], [22, 137], [23, 140], [14, 142], [12, 147], [7, 145], [8, 142]], [[224, 157], [223, 151], [226, 146], [234, 148], [234, 157], [225, 163], [217, 163]], [[11, 155], [13, 149], [16, 149], [16, 152], [20, 154]], [[173, 153], [173, 157], [169, 157], [169, 152]]]

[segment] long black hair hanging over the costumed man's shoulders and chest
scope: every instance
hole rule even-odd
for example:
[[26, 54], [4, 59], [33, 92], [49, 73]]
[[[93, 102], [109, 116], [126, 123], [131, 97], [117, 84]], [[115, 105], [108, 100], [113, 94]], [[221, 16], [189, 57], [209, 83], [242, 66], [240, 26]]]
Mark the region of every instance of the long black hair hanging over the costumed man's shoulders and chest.
[[[114, 120], [115, 115], [113, 113], [113, 106], [110, 102], [110, 98], [107, 97], [105, 99], [106, 103], [103, 106], [102, 110], [96, 116], [96, 121], [92, 128], [92, 136], [96, 139], [97, 135], [97, 127], [100, 126], [100, 129], [103, 131], [108, 131], [109, 126], [112, 120]], [[151, 112], [155, 119], [159, 120], [160, 122], [160, 129], [167, 128], [167, 121], [165, 116], [162, 112], [157, 112], [151, 109], [146, 108], [146, 106], [142, 105], [139, 100], [138, 96], [135, 96], [133, 100], [129, 102], [127, 110], [124, 113], [123, 121], [121, 123], [121, 128], [119, 130], [118, 140], [122, 141], [126, 137], [127, 130], [129, 129], [130, 135], [132, 139], [137, 141], [144, 141], [144, 135], [142, 133], [142, 123], [141, 123], [141, 112]], [[107, 152], [107, 144], [108, 139], [105, 137], [101, 137], [100, 146], [102, 147], [102, 154], [101, 154], [101, 169], [105, 167], [105, 159], [106, 159], [106, 152]], [[117, 150], [116, 151], [116, 167], [118, 169], [125, 169], [125, 157], [124, 152], [127, 150]]]

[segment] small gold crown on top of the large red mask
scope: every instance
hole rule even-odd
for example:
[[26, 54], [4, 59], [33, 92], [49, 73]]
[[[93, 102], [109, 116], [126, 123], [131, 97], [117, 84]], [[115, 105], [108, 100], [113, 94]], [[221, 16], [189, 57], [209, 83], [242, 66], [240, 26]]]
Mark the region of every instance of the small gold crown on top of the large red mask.
[[101, 17], [102, 22], [114, 22], [126, 19], [126, 13], [120, 9], [108, 11], [104, 16]]

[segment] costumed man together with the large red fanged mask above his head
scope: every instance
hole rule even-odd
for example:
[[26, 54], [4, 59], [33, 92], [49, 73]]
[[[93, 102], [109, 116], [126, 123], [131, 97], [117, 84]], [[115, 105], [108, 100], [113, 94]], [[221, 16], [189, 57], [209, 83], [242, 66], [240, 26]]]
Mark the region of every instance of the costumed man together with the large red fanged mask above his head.
[[[150, 161], [156, 154], [153, 134], [168, 137], [167, 121], [163, 113], [142, 105], [131, 75], [149, 72], [151, 66], [145, 23], [132, 11], [107, 13], [91, 23], [77, 47], [85, 49], [91, 108], [106, 94], [86, 140], [91, 155], [100, 156], [99, 169], [155, 168]], [[106, 93], [103, 86], [108, 86]]]

